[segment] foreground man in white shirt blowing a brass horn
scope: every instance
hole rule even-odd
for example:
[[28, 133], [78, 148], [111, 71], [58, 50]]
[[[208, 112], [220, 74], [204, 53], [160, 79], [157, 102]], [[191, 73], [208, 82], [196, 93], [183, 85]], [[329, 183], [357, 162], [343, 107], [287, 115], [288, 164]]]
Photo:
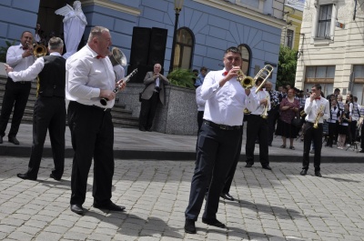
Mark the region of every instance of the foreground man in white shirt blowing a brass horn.
[[238, 152], [245, 103], [250, 94], [250, 90], [244, 91], [238, 82], [241, 63], [240, 50], [229, 47], [224, 55], [225, 68], [210, 71], [201, 87], [201, 96], [207, 102], [198, 133], [197, 161], [185, 212], [185, 231], [189, 234], [196, 234], [195, 222], [207, 187], [202, 222], [209, 226], [226, 227], [217, 220], [219, 196]]

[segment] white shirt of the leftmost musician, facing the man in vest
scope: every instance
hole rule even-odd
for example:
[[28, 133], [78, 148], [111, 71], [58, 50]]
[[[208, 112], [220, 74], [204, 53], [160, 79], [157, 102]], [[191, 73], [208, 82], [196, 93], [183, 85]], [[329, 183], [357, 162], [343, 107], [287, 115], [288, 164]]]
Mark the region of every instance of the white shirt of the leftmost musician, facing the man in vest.
[[10, 65], [15, 72], [27, 69], [30, 65], [35, 63], [35, 56], [30, 55], [23, 58], [23, 45], [10, 46], [6, 53], [6, 64]]

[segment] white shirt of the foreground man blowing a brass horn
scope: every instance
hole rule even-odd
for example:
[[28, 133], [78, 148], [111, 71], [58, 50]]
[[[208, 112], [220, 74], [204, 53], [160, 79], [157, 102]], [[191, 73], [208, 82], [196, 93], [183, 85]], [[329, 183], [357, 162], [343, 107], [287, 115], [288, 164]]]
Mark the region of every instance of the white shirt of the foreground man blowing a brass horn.
[[201, 97], [206, 100], [204, 119], [219, 125], [241, 126], [248, 97], [236, 77], [219, 86], [224, 72], [225, 69], [210, 71], [205, 77], [201, 87]]

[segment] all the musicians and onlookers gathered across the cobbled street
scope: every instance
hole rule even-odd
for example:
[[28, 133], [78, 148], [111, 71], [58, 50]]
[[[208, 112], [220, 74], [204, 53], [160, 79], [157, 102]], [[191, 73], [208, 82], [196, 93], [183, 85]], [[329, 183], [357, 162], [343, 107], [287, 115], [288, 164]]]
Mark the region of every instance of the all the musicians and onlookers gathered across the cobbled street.
[[[39, 87], [34, 110], [33, 146], [28, 169], [17, 176], [36, 180], [39, 170], [46, 131], [49, 130], [55, 168], [50, 177], [60, 180], [65, 166], [66, 118], [71, 132], [74, 158], [71, 174], [70, 209], [83, 215], [86, 200], [87, 177], [94, 162], [93, 206], [112, 211], [123, 211], [111, 201], [114, 175], [114, 126], [111, 109], [115, 104], [116, 91], [126, 88], [124, 71], [116, 75], [110, 60], [111, 35], [107, 28], [95, 26], [91, 29], [87, 44], [74, 55], [65, 59], [61, 54], [64, 42], [52, 37], [48, 42], [50, 55], [36, 58], [33, 55], [33, 35], [25, 31], [20, 45], [9, 48], [5, 70], [8, 73], [5, 96], [0, 115], [0, 143], [3, 143], [9, 115], [15, 104], [9, 142], [19, 145], [16, 134], [24, 113], [15, 97], [22, 95], [27, 101], [30, 81], [38, 76]], [[358, 126], [361, 126], [362, 108], [358, 98], [346, 96], [342, 102], [339, 89], [326, 98], [320, 85], [313, 85], [304, 94], [289, 85], [272, 88], [267, 78], [258, 77], [251, 88], [243, 88], [240, 66], [242, 57], [237, 47], [229, 47], [223, 55], [224, 68], [207, 73], [202, 67], [196, 80], [198, 105], [197, 161], [191, 181], [190, 196], [185, 211], [185, 231], [195, 234], [195, 222], [206, 200], [202, 222], [209, 226], [226, 227], [217, 220], [219, 198], [234, 200], [229, 194], [240, 151], [243, 126], [247, 125], [246, 167], [255, 164], [254, 149], [259, 144], [258, 160], [261, 167], [272, 170], [268, 159], [269, 146], [274, 136], [282, 137], [280, 148], [295, 150], [294, 140], [301, 136], [304, 141], [302, 170], [308, 174], [309, 153], [314, 154], [315, 176], [321, 177], [320, 156], [322, 139], [326, 146], [355, 145]], [[154, 65], [148, 72], [141, 95], [140, 130], [150, 131], [159, 102], [164, 104], [164, 86], [168, 80], [160, 74], [162, 66]], [[116, 78], [119, 76], [120, 79]], [[67, 106], [65, 99], [69, 101]], [[100, 103], [106, 100], [106, 105]], [[292, 122], [302, 119], [302, 125]], [[328, 133], [324, 127], [328, 127]], [[361, 129], [362, 130], [362, 129]], [[362, 132], [361, 132], [362, 133]], [[362, 149], [363, 135], [361, 136]], [[289, 146], [287, 143], [289, 139]]]

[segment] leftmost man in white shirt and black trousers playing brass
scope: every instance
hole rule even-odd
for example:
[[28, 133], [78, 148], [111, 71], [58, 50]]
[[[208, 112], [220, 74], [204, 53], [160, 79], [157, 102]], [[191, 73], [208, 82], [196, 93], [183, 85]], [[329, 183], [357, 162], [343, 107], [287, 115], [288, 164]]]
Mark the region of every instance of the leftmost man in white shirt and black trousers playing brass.
[[[20, 45], [10, 46], [6, 53], [6, 63], [10, 65], [14, 71], [25, 70], [30, 65], [35, 63], [35, 56], [33, 55], [33, 35], [29, 31], [23, 32], [20, 38]], [[10, 77], [7, 78], [5, 85], [5, 94], [3, 96], [3, 103], [1, 105], [0, 115], [0, 144], [3, 143], [5, 130], [9, 121], [12, 109], [14, 112], [12, 117], [12, 124], [9, 131], [9, 142], [19, 145], [16, 139], [17, 132], [19, 131], [20, 123], [25, 111], [26, 102], [30, 93], [31, 83], [29, 81], [14, 82]]]

